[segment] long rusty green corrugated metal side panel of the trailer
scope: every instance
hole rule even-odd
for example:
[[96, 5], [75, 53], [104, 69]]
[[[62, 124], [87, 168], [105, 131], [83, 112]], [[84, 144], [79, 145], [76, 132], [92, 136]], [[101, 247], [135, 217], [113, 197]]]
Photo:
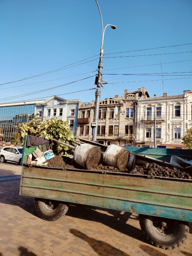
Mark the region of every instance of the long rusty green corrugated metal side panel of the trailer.
[[23, 167], [19, 195], [192, 221], [189, 181]]

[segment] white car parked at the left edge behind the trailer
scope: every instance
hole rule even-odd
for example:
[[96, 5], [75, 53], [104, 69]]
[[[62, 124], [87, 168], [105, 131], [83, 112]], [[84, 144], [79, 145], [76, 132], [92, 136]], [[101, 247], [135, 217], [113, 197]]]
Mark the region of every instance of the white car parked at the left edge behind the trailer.
[[5, 146], [0, 150], [0, 163], [11, 161], [11, 162], [20, 164], [22, 152], [23, 152], [23, 147]]

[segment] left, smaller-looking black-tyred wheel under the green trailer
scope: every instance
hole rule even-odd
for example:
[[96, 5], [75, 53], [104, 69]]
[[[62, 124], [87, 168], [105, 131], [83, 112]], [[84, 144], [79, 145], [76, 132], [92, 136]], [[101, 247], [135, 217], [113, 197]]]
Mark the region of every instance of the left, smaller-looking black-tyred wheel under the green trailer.
[[45, 221], [56, 221], [67, 213], [68, 206], [61, 201], [35, 198], [38, 215]]

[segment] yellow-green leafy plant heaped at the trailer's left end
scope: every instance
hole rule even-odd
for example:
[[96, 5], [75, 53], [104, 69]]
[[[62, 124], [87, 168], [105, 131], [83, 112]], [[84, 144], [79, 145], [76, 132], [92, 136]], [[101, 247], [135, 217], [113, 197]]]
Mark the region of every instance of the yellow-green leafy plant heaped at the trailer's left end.
[[[44, 137], [45, 139], [56, 139], [67, 144], [72, 144], [74, 139], [73, 131], [70, 130], [68, 121], [64, 122], [55, 116], [49, 120], [43, 119], [43, 121], [38, 121], [35, 117], [29, 122], [20, 124], [17, 128], [21, 135], [24, 138], [25, 135], [34, 135], [36, 137]], [[50, 144], [54, 154], [62, 155], [69, 152], [67, 146], [52, 142]]]

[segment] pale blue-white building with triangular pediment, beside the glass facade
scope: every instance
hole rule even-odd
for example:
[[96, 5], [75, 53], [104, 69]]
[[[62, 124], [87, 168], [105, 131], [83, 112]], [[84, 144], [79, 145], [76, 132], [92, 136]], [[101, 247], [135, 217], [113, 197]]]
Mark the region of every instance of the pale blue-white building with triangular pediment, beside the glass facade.
[[63, 99], [52, 96], [44, 102], [35, 105], [35, 114], [38, 119], [50, 119], [57, 116], [62, 121], [69, 120], [70, 129], [76, 134], [79, 99]]

